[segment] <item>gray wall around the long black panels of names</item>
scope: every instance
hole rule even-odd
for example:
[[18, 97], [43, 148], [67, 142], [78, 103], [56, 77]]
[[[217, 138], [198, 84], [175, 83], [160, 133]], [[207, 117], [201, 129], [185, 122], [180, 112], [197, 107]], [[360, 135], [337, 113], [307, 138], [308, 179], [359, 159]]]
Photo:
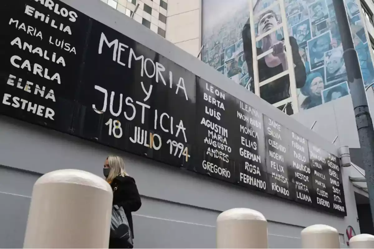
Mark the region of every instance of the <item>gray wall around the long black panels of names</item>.
[[[329, 141], [110, 6], [99, 0], [64, 2], [337, 155], [337, 147]], [[32, 186], [40, 174], [77, 168], [102, 175], [104, 159], [111, 153], [123, 156], [142, 195], [142, 207], [134, 214], [137, 248], [214, 248], [217, 215], [234, 207], [264, 214], [269, 221], [270, 248], [300, 248], [300, 231], [312, 224], [337, 228], [341, 243], [347, 225], [359, 232], [354, 187], [348, 180], [352, 167], [343, 169], [348, 216], [340, 218], [5, 116], [0, 116], [0, 127], [0, 247], [22, 247]]]

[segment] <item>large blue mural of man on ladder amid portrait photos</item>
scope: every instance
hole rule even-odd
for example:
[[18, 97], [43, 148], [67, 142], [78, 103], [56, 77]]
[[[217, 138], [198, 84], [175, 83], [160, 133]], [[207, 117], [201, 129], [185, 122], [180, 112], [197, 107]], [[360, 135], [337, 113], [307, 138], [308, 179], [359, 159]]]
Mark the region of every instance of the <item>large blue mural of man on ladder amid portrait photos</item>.
[[[248, 1], [202, 1], [202, 60], [254, 91]], [[283, 27], [288, 30], [295, 65], [299, 110], [349, 94], [332, 0], [284, 0], [285, 20], [280, 0], [251, 1], [261, 98], [274, 104], [291, 97]], [[364, 84], [368, 85], [374, 81], [374, 68], [359, 6], [356, 0], [344, 1]], [[272, 77], [276, 79], [269, 82]]]

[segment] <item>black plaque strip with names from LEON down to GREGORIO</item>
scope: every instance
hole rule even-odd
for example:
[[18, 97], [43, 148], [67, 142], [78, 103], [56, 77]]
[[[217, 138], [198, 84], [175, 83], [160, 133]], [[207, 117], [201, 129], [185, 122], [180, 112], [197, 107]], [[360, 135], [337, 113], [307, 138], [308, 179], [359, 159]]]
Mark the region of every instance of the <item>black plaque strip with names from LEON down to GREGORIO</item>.
[[196, 162], [193, 171], [235, 183], [235, 127], [233, 96], [198, 78], [196, 85]]

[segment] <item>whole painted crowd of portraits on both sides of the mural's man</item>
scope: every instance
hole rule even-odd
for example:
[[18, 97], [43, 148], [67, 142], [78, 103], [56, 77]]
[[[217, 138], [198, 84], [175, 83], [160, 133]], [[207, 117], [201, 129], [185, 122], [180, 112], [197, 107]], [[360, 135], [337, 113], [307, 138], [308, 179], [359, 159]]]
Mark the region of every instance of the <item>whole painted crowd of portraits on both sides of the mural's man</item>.
[[[282, 21], [286, 21], [289, 35], [297, 41], [298, 52], [307, 73], [304, 87], [297, 89], [300, 110], [321, 105], [337, 98], [337, 96], [349, 93], [348, 84], [345, 83], [347, 81], [346, 69], [332, 0], [284, 0], [286, 20], [282, 20], [279, 3], [276, 0], [252, 1], [259, 3], [256, 4], [257, 9], [254, 9], [256, 47], [258, 49], [262, 46], [261, 34], [257, 30], [258, 16], [269, 9], [273, 10], [277, 16], [277, 27], [281, 27]], [[364, 84], [368, 85], [374, 80], [374, 67], [359, 7], [356, 0], [344, 0], [344, 2], [347, 7], [355, 48], [358, 52]], [[249, 8], [246, 4], [238, 8], [234, 15], [227, 15], [220, 25], [212, 27], [209, 32], [204, 31], [202, 41], [205, 47], [202, 50], [202, 60], [236, 83], [254, 91], [253, 80], [248, 75], [242, 43], [242, 29], [248, 17]], [[282, 28], [273, 33], [278, 40], [283, 39]], [[269, 53], [269, 51], [267, 52]], [[266, 54], [263, 52], [263, 56]], [[261, 71], [261, 68], [258, 69]], [[284, 77], [288, 77], [288, 75]], [[346, 91], [340, 90], [340, 94], [327, 94], [335, 88]], [[274, 90], [278, 91], [276, 88]], [[261, 97], [263, 97], [262, 94]]]

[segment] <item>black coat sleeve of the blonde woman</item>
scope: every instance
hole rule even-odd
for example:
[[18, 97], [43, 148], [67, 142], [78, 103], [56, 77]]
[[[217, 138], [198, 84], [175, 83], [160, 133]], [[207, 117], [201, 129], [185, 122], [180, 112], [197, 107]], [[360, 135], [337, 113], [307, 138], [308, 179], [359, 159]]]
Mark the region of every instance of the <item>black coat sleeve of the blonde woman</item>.
[[141, 207], [141, 199], [137, 184], [132, 177], [121, 177], [119, 184], [120, 196], [113, 199], [114, 205], [123, 207], [125, 212], [135, 212]]

